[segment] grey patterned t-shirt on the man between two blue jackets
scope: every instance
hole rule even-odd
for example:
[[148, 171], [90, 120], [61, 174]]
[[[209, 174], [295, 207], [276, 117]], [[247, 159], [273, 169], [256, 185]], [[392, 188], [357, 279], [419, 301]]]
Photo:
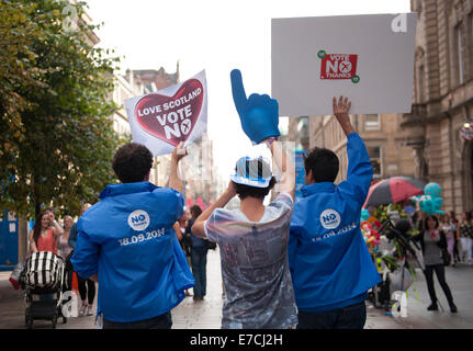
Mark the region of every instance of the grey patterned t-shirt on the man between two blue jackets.
[[206, 236], [218, 245], [226, 291], [223, 329], [286, 329], [297, 324], [288, 264], [293, 201], [281, 193], [262, 218], [250, 222], [239, 210], [215, 210]]

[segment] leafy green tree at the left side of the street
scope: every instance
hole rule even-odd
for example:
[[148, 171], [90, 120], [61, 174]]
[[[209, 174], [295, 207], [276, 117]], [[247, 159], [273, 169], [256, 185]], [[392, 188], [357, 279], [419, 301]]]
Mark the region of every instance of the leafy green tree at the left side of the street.
[[53, 204], [78, 214], [114, 182], [119, 58], [93, 47], [98, 26], [81, 20], [83, 2], [74, 4], [70, 31], [68, 1], [0, 1], [0, 208], [32, 216]]

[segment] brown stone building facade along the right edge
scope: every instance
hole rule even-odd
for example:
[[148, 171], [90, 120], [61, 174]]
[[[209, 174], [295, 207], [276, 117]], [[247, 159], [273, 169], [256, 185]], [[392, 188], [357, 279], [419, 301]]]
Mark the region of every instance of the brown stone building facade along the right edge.
[[442, 188], [444, 211], [473, 210], [473, 0], [412, 0], [418, 12], [412, 113], [401, 126], [415, 176]]

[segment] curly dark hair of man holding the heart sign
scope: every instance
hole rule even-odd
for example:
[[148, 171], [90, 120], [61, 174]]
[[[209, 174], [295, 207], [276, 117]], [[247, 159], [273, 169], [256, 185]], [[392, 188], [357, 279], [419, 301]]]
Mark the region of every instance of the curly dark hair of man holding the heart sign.
[[142, 182], [153, 167], [153, 154], [137, 143], [127, 143], [116, 150], [112, 168], [122, 183]]

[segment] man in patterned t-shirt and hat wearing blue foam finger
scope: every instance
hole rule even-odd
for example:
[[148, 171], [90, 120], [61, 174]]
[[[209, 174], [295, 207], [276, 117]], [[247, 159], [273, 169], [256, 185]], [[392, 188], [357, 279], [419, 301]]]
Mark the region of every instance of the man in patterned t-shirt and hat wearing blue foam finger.
[[[241, 126], [252, 143], [264, 141], [282, 170], [280, 193], [268, 206], [266, 195], [275, 183], [262, 157], [243, 157], [227, 190], [192, 226], [192, 233], [221, 249], [226, 291], [224, 329], [288, 329], [297, 324], [288, 264], [288, 238], [294, 203], [295, 171], [275, 141], [278, 102], [268, 95], [246, 98], [239, 70], [232, 71], [232, 89]], [[239, 210], [223, 208], [235, 195]]]

